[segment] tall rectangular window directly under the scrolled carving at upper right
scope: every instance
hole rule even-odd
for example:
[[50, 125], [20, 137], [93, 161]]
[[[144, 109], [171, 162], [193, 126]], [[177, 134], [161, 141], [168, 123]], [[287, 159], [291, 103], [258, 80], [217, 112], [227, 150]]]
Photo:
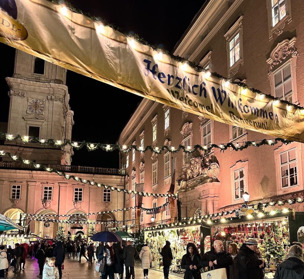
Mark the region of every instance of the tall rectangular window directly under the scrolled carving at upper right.
[[292, 103], [292, 80], [290, 64], [275, 73], [275, 96]]

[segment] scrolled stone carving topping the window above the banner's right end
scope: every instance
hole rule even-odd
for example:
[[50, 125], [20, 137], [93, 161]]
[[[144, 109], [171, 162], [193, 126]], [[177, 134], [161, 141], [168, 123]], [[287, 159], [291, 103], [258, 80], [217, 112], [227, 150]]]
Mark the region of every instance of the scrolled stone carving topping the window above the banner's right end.
[[291, 40], [285, 39], [278, 43], [273, 51], [271, 51], [270, 57], [266, 61], [268, 64], [270, 64], [268, 78], [275, 66], [282, 63], [289, 55], [292, 57], [299, 56], [299, 53], [295, 48], [296, 39], [296, 37], [293, 37]]

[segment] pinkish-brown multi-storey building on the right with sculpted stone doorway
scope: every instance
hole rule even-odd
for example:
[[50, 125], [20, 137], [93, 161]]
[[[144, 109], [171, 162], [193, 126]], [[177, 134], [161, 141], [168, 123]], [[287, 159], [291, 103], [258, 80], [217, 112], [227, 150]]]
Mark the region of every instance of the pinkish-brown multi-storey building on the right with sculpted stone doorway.
[[[300, 7], [299, 0], [207, 1], [173, 54], [266, 94], [303, 104], [304, 21]], [[121, 132], [119, 144], [176, 148], [180, 144], [242, 145], [264, 138], [271, 137], [143, 99]], [[145, 191], [165, 193], [171, 183], [171, 156], [177, 157], [175, 190], [181, 217], [193, 217], [239, 208], [244, 192], [250, 194], [253, 204], [301, 197], [302, 147], [292, 142], [250, 146], [239, 152], [213, 148], [209, 154], [130, 152], [122, 154], [121, 166], [130, 176], [129, 189], [144, 182]], [[130, 197], [126, 202], [134, 204]], [[146, 208], [165, 202], [165, 198], [143, 198]], [[293, 207], [303, 211], [301, 204]], [[157, 214], [154, 222], [168, 220], [169, 214], [168, 210]], [[141, 221], [147, 225], [150, 216]]]

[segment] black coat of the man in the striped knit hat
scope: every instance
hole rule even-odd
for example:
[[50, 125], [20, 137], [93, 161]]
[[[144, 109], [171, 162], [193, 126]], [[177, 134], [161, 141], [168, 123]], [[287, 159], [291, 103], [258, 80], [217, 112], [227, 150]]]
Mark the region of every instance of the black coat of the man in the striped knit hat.
[[237, 257], [239, 279], [263, 278], [263, 269], [259, 267], [263, 261], [258, 259], [257, 253], [248, 248], [246, 243], [240, 247]]

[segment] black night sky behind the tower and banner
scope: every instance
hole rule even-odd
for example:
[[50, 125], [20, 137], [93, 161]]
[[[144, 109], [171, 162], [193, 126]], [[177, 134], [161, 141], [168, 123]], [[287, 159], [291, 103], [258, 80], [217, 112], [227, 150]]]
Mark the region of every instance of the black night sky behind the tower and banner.
[[[172, 51], [205, 1], [187, 1], [181, 4], [137, 0], [69, 2], [83, 12], [119, 26], [125, 32], [136, 33], [151, 44]], [[5, 63], [2, 60], [0, 67], [0, 121], [7, 122], [9, 97], [5, 77], [13, 74], [15, 49], [0, 44], [0, 54], [2, 59], [5, 58]], [[141, 97], [132, 93], [72, 71], [67, 72], [67, 86], [71, 110], [74, 111], [73, 141], [115, 144], [120, 131], [141, 100]], [[115, 110], [108, 110], [103, 102], [109, 103], [112, 96], [120, 100], [120, 105]], [[119, 155], [118, 152], [88, 152], [82, 149], [75, 151], [72, 165], [118, 168]]]

